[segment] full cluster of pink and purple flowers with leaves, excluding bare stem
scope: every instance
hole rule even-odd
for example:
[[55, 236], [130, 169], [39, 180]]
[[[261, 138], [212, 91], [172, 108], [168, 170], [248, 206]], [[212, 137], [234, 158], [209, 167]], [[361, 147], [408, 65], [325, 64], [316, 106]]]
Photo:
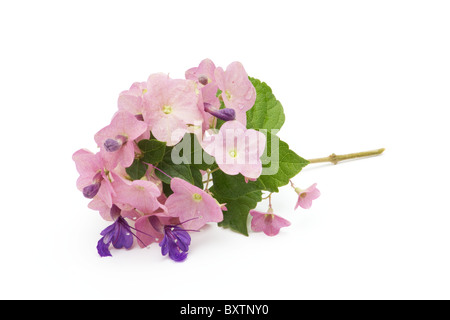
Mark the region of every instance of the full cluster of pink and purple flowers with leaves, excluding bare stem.
[[[278, 234], [290, 223], [271, 204], [267, 213], [253, 209], [263, 192], [270, 199], [308, 164], [272, 132], [283, 123], [270, 88], [239, 62], [224, 70], [205, 59], [185, 79], [157, 73], [133, 83], [95, 134], [97, 152], [73, 154], [78, 189], [112, 222], [101, 232], [99, 255], [159, 243], [163, 255], [183, 261], [190, 232], [216, 222], [247, 234], [249, 214], [253, 231]], [[295, 208], [310, 208], [319, 196], [315, 185], [291, 184]]]

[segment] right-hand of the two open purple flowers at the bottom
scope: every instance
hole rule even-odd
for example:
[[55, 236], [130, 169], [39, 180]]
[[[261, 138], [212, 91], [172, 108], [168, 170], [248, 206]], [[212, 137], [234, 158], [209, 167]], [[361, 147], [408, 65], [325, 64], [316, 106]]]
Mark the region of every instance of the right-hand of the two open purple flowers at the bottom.
[[164, 226], [164, 239], [159, 244], [163, 256], [169, 253], [170, 259], [177, 262], [184, 261], [190, 244], [191, 236], [179, 225]]

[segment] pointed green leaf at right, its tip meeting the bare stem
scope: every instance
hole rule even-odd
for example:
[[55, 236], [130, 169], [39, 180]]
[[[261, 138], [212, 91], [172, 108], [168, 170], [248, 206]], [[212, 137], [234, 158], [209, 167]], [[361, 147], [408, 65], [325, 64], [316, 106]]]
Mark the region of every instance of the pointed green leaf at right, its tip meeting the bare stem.
[[[281, 141], [278, 136], [269, 132], [266, 132], [266, 135], [267, 153], [264, 152], [264, 155], [261, 157], [263, 174], [258, 178], [258, 181], [264, 184], [264, 190], [278, 192], [278, 188], [287, 185], [289, 179], [295, 177], [309, 164], [309, 161], [289, 149], [289, 145]], [[275, 170], [276, 172], [272, 174], [265, 174]]]

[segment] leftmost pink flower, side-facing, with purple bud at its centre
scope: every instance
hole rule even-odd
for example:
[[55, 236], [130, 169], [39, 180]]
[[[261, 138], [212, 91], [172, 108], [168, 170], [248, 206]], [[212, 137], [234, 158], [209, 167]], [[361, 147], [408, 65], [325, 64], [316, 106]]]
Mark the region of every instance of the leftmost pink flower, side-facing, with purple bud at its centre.
[[109, 207], [115, 191], [109, 180], [109, 167], [100, 152], [94, 154], [86, 149], [80, 149], [72, 156], [80, 174], [77, 187], [88, 199], [100, 198]]

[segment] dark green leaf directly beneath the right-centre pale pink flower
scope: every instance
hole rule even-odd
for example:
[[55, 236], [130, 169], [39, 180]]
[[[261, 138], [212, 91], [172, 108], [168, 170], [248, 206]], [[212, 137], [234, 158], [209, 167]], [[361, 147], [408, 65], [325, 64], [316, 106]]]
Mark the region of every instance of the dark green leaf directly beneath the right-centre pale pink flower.
[[250, 192], [264, 189], [261, 181], [245, 182], [243, 175], [227, 175], [221, 170], [213, 172], [213, 183], [216, 193], [222, 198], [237, 199]]

